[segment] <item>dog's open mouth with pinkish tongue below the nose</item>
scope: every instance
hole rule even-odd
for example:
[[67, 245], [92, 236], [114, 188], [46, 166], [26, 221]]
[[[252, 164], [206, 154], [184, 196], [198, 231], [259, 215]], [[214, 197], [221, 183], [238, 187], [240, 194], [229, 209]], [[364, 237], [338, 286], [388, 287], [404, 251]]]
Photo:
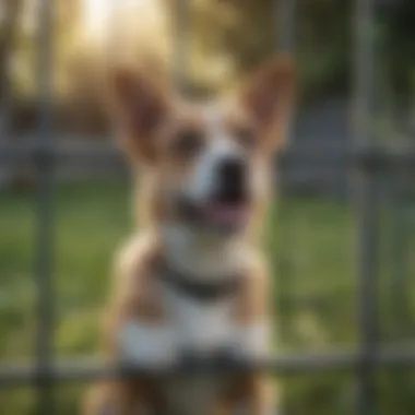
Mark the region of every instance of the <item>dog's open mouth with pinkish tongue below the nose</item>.
[[245, 227], [249, 217], [250, 205], [246, 201], [225, 203], [211, 201], [197, 204], [189, 200], [180, 203], [183, 220], [212, 229], [239, 230]]

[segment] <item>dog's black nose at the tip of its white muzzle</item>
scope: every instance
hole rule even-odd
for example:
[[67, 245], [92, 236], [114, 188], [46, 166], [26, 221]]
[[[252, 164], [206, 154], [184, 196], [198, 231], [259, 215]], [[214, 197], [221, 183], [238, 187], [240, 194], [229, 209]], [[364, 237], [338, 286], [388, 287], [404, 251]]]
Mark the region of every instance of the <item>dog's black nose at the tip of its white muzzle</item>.
[[218, 166], [218, 199], [238, 203], [246, 199], [247, 166], [239, 158], [224, 159]]

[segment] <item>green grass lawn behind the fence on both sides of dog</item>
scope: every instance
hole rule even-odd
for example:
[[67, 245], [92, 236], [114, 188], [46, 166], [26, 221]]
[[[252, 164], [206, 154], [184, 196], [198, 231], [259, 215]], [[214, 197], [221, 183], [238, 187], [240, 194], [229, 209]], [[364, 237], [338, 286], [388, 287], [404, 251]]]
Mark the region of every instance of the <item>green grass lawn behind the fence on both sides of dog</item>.
[[[55, 191], [54, 208], [56, 354], [92, 355], [97, 352], [99, 317], [112, 254], [132, 227], [129, 189], [117, 181], [60, 186]], [[33, 356], [37, 209], [33, 193], [0, 192], [3, 363]], [[377, 294], [379, 333], [384, 341], [415, 340], [415, 260], [414, 256], [404, 254], [415, 251], [415, 223], [411, 216], [405, 221], [402, 223], [401, 215], [392, 215], [388, 205], [382, 206]], [[265, 246], [274, 270], [278, 348], [309, 352], [356, 345], [357, 227], [353, 208], [345, 201], [323, 198], [283, 198], [268, 224]], [[405, 239], [396, 250], [398, 241]], [[395, 276], [403, 272], [406, 281], [401, 278], [400, 286], [401, 280]], [[289, 377], [284, 384], [289, 414], [353, 413], [352, 374]], [[410, 369], [380, 370], [378, 386], [380, 414], [415, 412], [415, 398], [411, 393], [415, 379]], [[57, 388], [59, 414], [78, 413], [82, 389]], [[0, 392], [1, 413], [31, 414], [33, 402], [31, 390]]]

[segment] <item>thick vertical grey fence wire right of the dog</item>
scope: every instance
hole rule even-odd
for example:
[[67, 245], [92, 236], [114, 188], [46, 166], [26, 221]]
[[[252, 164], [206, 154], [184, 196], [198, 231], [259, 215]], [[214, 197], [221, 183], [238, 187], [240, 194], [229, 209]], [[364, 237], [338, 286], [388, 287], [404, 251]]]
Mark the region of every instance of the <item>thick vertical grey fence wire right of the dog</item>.
[[[375, 109], [375, 0], [356, 0], [354, 24], [354, 145], [374, 144]], [[374, 166], [356, 171], [358, 226], [358, 316], [361, 361], [358, 365], [357, 415], [374, 414], [376, 379], [372, 356], [377, 341], [377, 183]]]

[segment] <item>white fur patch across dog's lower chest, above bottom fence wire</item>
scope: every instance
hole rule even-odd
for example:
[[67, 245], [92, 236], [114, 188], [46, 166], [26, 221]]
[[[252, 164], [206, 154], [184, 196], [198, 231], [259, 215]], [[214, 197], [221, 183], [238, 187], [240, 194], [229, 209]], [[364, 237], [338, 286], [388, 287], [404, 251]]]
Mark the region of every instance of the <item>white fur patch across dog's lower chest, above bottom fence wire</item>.
[[206, 354], [217, 347], [232, 345], [246, 358], [263, 357], [269, 352], [269, 324], [257, 321], [236, 325], [230, 318], [229, 301], [202, 304], [164, 289], [170, 322], [149, 325], [128, 322], [119, 333], [123, 357], [140, 365], [170, 365], [178, 352], [191, 348]]

